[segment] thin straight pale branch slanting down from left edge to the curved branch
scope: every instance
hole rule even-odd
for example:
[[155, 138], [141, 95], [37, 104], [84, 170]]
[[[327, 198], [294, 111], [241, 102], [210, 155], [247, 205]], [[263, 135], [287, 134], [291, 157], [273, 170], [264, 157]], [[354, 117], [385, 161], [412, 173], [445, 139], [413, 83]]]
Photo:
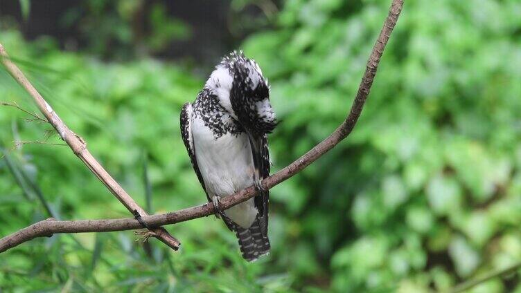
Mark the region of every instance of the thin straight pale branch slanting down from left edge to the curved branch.
[[[16, 81], [25, 88], [33, 100], [37, 104], [39, 111], [45, 116], [46, 120], [58, 131], [58, 134], [72, 149], [73, 153], [87, 165], [96, 177], [103, 182], [103, 185], [111, 191], [116, 198], [133, 214], [136, 212], [141, 216], [148, 215], [144, 209], [142, 209], [136, 201], [121, 187], [121, 185], [110, 176], [110, 174], [101, 166], [101, 164], [94, 158], [94, 156], [87, 149], [85, 140], [80, 138], [79, 135], [73, 133], [69, 127], [62, 121], [51, 105], [38, 93], [33, 84], [30, 84], [24, 73], [11, 61], [6, 50], [0, 44], [0, 63], [7, 69], [8, 73], [16, 79]], [[168, 234], [168, 231], [162, 227], [153, 229], [154, 236], [161, 240], [163, 243], [168, 245], [174, 250], [179, 249], [179, 240]]]

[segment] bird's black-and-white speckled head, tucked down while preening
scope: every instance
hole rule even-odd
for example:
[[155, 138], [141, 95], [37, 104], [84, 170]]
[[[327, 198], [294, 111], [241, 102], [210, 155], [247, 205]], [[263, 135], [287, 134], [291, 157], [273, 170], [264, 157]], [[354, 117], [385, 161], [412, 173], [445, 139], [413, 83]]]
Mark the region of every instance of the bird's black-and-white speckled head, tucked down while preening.
[[215, 67], [206, 86], [221, 106], [249, 132], [271, 133], [277, 122], [270, 104], [270, 86], [253, 59], [230, 53]]

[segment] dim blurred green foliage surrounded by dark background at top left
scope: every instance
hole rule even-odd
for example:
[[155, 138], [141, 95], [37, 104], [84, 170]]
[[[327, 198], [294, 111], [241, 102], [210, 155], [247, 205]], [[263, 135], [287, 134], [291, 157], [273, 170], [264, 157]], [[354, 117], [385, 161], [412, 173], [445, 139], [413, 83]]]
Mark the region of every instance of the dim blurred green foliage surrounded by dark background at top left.
[[166, 49], [174, 40], [191, 36], [184, 21], [169, 17], [162, 3], [143, 0], [82, 1], [60, 18], [64, 28], [78, 27], [78, 39], [90, 53], [131, 59]]

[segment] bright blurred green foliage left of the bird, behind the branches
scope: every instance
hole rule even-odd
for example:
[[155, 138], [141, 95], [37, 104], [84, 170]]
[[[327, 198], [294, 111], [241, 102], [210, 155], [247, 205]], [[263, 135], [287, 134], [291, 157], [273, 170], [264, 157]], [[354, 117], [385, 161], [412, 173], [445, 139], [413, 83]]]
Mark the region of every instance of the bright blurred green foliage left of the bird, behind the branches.
[[[81, 133], [89, 149], [143, 206], [143, 151], [148, 153], [155, 212], [205, 202], [179, 135], [179, 111], [197, 95], [201, 79], [150, 59], [102, 64], [56, 50], [45, 41], [26, 46], [15, 32], [3, 32], [1, 39], [55, 111]], [[3, 70], [0, 82], [2, 99], [36, 110]], [[50, 126], [25, 122], [27, 115], [12, 107], [2, 107], [1, 113], [5, 131], [0, 141], [7, 153], [0, 160], [1, 235], [53, 215], [46, 205], [62, 219], [129, 216], [67, 147], [25, 144], [9, 150], [13, 140], [46, 140]], [[54, 135], [47, 142], [60, 140]], [[155, 241], [147, 253], [132, 232], [37, 239], [2, 254], [0, 287], [245, 292], [260, 290], [261, 285], [281, 291], [290, 285], [283, 270], [266, 274], [263, 267], [268, 260], [252, 265], [242, 261], [235, 236], [213, 217], [172, 231], [183, 243], [179, 253]]]

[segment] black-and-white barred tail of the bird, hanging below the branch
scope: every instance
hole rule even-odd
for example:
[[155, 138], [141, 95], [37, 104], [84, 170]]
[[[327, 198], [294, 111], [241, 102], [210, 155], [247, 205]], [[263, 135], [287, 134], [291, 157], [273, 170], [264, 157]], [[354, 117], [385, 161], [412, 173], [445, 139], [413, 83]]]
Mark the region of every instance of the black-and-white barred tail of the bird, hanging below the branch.
[[258, 218], [248, 229], [236, 225], [235, 231], [240, 252], [246, 261], [256, 261], [260, 256], [270, 252], [270, 239], [260, 231]]

